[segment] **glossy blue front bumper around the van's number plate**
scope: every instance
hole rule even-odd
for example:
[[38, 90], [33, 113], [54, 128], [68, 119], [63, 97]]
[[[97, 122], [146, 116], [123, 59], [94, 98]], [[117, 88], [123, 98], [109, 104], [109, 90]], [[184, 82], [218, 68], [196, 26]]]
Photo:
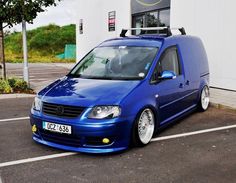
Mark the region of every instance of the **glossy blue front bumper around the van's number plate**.
[[[90, 120], [65, 121], [57, 118], [48, 118], [31, 114], [30, 122], [36, 126], [33, 132], [33, 140], [58, 149], [85, 153], [111, 153], [125, 150], [130, 144], [130, 134], [134, 117], [126, 120], [111, 120], [111, 122], [94, 123]], [[72, 134], [60, 134], [43, 129], [43, 121], [70, 125]], [[103, 139], [109, 139], [109, 143], [103, 143]]]

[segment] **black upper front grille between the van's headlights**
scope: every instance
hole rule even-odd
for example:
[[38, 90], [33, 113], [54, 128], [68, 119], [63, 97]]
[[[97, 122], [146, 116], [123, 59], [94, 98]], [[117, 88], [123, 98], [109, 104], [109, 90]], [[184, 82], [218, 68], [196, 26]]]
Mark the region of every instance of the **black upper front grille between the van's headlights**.
[[84, 111], [84, 108], [43, 102], [42, 110], [44, 114], [51, 116], [75, 118]]

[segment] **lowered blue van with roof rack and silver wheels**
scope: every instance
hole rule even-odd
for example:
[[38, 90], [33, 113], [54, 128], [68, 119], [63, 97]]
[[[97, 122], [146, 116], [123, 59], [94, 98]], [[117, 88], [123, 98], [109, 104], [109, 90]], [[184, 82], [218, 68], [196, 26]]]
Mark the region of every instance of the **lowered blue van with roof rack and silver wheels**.
[[[33, 140], [108, 153], [148, 144], [158, 130], [209, 106], [209, 68], [193, 36], [144, 34], [104, 41], [69, 74], [40, 91], [31, 109]], [[151, 29], [153, 31], [153, 28]]]

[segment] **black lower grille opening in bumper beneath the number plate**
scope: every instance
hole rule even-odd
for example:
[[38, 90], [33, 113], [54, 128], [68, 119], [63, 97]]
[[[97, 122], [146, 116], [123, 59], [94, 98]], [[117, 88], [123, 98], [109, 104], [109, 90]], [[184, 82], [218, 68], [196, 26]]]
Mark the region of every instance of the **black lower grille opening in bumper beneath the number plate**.
[[55, 132], [50, 132], [47, 130], [39, 129], [41, 137], [48, 142], [53, 142], [56, 144], [62, 144], [66, 146], [79, 147], [81, 140], [79, 137], [69, 134], [60, 134]]

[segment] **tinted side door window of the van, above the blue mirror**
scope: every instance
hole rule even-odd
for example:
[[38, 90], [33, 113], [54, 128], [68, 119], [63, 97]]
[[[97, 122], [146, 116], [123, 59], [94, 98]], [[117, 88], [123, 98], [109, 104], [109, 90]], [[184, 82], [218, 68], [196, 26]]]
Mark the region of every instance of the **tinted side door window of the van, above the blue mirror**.
[[177, 48], [172, 47], [167, 49], [158, 62], [158, 73], [161, 74], [163, 71], [173, 71], [177, 76], [181, 74], [179, 59], [177, 54]]

